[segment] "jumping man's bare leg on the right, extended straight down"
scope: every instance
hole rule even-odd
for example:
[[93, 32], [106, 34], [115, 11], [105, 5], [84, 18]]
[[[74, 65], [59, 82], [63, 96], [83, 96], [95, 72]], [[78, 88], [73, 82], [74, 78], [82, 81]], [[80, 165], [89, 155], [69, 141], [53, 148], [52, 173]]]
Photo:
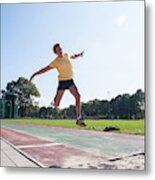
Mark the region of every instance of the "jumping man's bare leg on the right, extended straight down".
[[74, 96], [75, 101], [76, 101], [76, 116], [80, 117], [81, 116], [81, 102], [80, 102], [80, 94], [78, 92], [78, 89], [75, 85], [72, 85], [69, 88], [69, 91]]

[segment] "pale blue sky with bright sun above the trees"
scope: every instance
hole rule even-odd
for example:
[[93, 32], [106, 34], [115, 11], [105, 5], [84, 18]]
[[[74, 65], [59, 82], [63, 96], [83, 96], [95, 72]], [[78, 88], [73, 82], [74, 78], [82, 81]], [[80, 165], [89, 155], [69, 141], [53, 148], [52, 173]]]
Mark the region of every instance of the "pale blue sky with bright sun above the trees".
[[[73, 60], [74, 80], [83, 102], [144, 90], [144, 1], [1, 5], [1, 65], [7, 82], [48, 65], [59, 42]], [[53, 101], [57, 71], [37, 76], [40, 105]], [[74, 104], [66, 91], [60, 108]]]

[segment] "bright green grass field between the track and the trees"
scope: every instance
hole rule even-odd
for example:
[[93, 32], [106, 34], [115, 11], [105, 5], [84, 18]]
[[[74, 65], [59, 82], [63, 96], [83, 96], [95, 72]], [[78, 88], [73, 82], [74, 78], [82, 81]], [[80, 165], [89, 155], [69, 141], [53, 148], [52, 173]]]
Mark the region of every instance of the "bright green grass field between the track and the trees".
[[103, 131], [106, 126], [117, 126], [120, 128], [120, 131], [113, 132], [144, 135], [144, 120], [86, 120], [86, 128], [81, 128], [77, 126], [75, 124], [75, 120], [5, 119], [2, 121], [69, 127], [96, 131]]

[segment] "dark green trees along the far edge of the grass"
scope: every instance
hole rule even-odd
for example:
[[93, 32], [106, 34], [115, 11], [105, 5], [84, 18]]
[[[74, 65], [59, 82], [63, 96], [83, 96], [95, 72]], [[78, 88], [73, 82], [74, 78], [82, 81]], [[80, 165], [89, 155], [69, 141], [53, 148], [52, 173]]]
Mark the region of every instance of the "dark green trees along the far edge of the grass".
[[[4, 93], [4, 91], [3, 91]], [[19, 99], [20, 117], [48, 118], [48, 119], [72, 119], [75, 118], [75, 106], [56, 109], [51, 104], [49, 107], [39, 107], [34, 97], [40, 93], [32, 82], [20, 77], [17, 81], [7, 84], [5, 93], [15, 93]], [[82, 115], [89, 119], [144, 119], [145, 93], [138, 89], [134, 94], [118, 95], [111, 100], [94, 99], [86, 103], [82, 102]]]

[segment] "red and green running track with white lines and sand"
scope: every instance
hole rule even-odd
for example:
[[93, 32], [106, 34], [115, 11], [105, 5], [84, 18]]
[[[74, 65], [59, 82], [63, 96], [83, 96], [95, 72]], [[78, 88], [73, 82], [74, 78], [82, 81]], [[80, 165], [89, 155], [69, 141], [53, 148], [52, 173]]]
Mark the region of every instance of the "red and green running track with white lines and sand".
[[1, 135], [41, 167], [144, 169], [143, 136], [2, 123]]

